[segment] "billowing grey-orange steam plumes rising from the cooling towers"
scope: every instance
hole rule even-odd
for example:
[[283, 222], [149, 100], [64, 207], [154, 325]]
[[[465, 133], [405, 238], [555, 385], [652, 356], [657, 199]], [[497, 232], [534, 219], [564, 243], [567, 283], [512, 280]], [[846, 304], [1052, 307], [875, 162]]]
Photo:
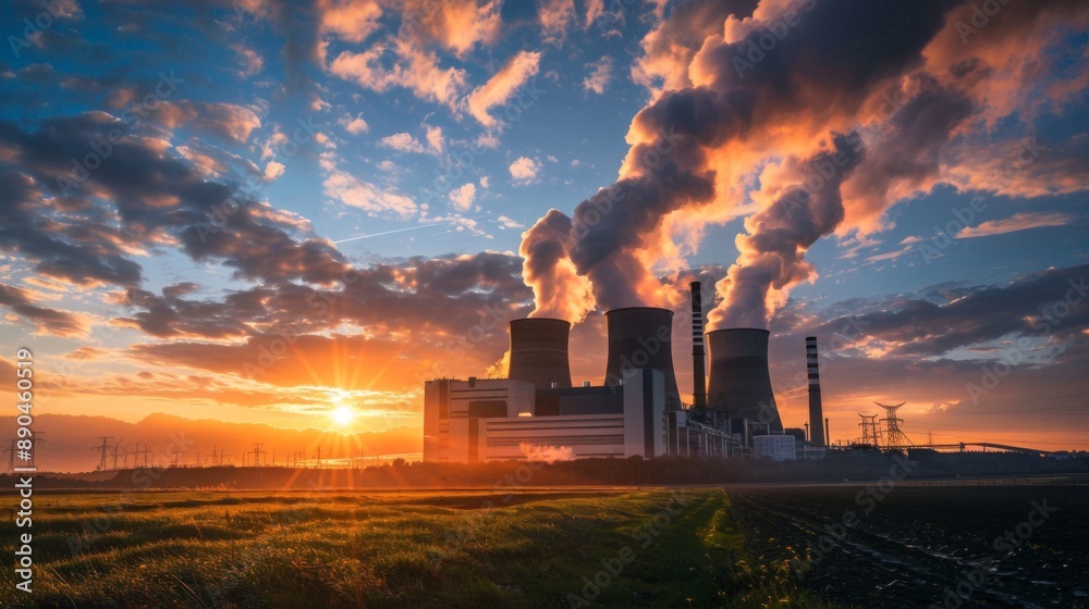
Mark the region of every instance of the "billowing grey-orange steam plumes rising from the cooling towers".
[[[706, 23], [656, 28], [641, 75], [687, 78], [666, 77], [676, 88], [635, 116], [613, 186], [524, 236], [535, 314], [585, 316], [586, 279], [605, 310], [662, 306], [654, 272], [695, 251], [708, 224], [748, 215], [709, 327], [767, 327], [790, 289], [815, 278], [805, 252], [817, 239], [886, 228], [891, 204], [952, 183], [942, 159], [991, 144], [980, 124], [1037, 103], [1052, 77], [1016, 66], [1049, 61], [1056, 28], [1089, 22], [1089, 5], [1072, 0], [1001, 11], [981, 24], [964, 0], [766, 0], [710, 37]], [[1067, 77], [1050, 101], [1072, 95]]]

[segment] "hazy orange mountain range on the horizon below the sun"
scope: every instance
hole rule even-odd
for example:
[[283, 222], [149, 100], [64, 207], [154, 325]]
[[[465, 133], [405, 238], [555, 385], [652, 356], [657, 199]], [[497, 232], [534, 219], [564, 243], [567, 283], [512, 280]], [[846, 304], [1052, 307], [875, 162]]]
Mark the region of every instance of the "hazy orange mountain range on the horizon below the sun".
[[[107, 450], [107, 469], [114, 468], [114, 450], [118, 446], [117, 468], [150, 467], [178, 463], [197, 464], [253, 464], [278, 465], [294, 462], [297, 458], [350, 459], [376, 456], [405, 455], [408, 460], [418, 459], [423, 449], [420, 427], [391, 427], [379, 432], [342, 434], [322, 430], [285, 430], [255, 423], [224, 423], [213, 420], [194, 420], [172, 414], [156, 413], [137, 423], [126, 423], [109, 417], [86, 417], [69, 414], [41, 414], [34, 418], [33, 428], [41, 433], [42, 442], [36, 451], [38, 471], [88, 472], [101, 463], [101, 437], [110, 446]], [[4, 418], [0, 424], [2, 448], [11, 448], [15, 437], [15, 418]], [[137, 446], [138, 444], [138, 446]], [[260, 453], [255, 456], [254, 445], [260, 444]], [[137, 450], [139, 452], [137, 452]], [[319, 453], [320, 451], [320, 453]], [[127, 453], [127, 456], [126, 456]], [[320, 455], [320, 457], [319, 457]], [[7, 471], [8, 452], [0, 471]], [[24, 464], [16, 457], [15, 465]]]

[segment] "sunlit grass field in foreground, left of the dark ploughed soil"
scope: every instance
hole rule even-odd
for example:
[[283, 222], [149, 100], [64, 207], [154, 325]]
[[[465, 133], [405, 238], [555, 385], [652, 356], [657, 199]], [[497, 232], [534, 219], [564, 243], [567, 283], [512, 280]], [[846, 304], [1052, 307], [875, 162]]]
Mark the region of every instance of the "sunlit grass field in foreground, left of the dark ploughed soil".
[[[785, 564], [746, 556], [724, 493], [684, 492], [680, 510], [671, 494], [36, 496], [26, 606], [827, 606]], [[11, 523], [0, 527], [9, 557]], [[76, 538], [88, 545], [73, 555]], [[586, 588], [596, 576], [608, 582]], [[0, 572], [0, 606], [27, 600], [14, 583]], [[584, 588], [594, 598], [574, 601]]]

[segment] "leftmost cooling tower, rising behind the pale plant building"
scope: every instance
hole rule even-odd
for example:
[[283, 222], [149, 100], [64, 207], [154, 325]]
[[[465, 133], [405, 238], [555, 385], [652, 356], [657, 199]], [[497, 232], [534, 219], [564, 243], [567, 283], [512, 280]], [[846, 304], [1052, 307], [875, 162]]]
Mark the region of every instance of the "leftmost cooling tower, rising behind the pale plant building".
[[538, 389], [571, 386], [564, 320], [530, 318], [511, 321], [511, 365], [506, 376], [528, 381]]

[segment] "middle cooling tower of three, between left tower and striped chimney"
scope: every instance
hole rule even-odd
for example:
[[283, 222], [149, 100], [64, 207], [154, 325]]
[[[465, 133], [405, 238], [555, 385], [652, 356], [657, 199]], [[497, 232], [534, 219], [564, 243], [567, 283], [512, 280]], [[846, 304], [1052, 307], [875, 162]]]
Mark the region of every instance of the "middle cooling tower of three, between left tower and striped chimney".
[[609, 311], [605, 319], [609, 324], [605, 385], [619, 385], [625, 369], [653, 368], [665, 375], [666, 406], [680, 401], [673, 372], [673, 311], [627, 307]]

